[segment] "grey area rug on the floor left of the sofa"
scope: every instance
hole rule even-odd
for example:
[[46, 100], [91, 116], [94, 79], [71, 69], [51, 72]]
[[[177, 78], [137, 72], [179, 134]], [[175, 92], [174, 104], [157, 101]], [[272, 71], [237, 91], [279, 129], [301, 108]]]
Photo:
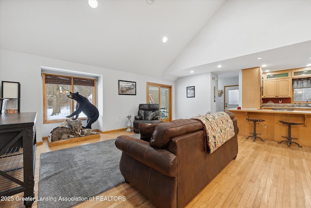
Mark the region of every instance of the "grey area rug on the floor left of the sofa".
[[70, 208], [123, 183], [115, 140], [41, 153], [38, 208]]

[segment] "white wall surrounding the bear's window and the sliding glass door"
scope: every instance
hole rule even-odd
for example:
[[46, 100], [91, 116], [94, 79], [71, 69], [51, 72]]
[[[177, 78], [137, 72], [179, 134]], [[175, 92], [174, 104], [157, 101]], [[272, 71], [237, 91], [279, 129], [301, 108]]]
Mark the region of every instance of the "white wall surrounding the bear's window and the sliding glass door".
[[[126, 116], [137, 115], [138, 104], [146, 103], [146, 82], [173, 86], [174, 119], [175, 86], [173, 81], [0, 49], [0, 81], [20, 82], [20, 112], [38, 113], [37, 141], [41, 141], [42, 136], [48, 136], [53, 128], [60, 125], [59, 123], [43, 124], [42, 67], [64, 69], [72, 74], [90, 73], [99, 77], [97, 107], [100, 117], [92, 126], [93, 129], [109, 131], [126, 128]], [[118, 95], [119, 79], [136, 81], [137, 95]], [[120, 122], [117, 122], [117, 119]]]

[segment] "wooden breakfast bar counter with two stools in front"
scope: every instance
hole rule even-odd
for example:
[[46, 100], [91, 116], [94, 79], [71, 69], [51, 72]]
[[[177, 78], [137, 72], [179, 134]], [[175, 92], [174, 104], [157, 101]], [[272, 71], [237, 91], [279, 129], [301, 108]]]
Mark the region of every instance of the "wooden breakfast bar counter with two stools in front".
[[303, 123], [303, 125], [292, 126], [292, 137], [298, 138], [293, 141], [301, 146], [311, 147], [311, 111], [305, 109], [301, 111], [296, 109], [294, 111], [260, 110], [256, 108], [226, 110], [234, 113], [235, 118], [238, 120], [239, 135], [249, 136], [250, 132], [253, 131], [253, 122], [246, 120], [246, 118], [265, 120], [256, 124], [257, 133], [261, 133], [260, 137], [263, 140], [277, 142], [284, 140], [282, 136], [287, 136], [287, 126], [279, 121]]

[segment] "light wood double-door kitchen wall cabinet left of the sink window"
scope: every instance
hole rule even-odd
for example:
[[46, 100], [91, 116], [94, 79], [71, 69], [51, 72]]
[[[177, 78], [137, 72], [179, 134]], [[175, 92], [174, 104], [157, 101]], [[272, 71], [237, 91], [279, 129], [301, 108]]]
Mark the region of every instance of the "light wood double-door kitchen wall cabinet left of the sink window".
[[291, 97], [291, 78], [268, 79], [265, 80], [264, 97]]

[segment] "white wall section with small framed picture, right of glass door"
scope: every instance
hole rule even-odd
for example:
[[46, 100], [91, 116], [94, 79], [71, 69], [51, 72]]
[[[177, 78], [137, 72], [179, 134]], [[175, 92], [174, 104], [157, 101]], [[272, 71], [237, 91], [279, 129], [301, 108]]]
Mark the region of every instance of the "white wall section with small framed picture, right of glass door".
[[[217, 80], [211, 80], [211, 73], [180, 77], [175, 81], [176, 102], [175, 118], [190, 118], [198, 114], [216, 111], [213, 99], [213, 86]], [[195, 97], [187, 97], [187, 87], [194, 86]], [[217, 88], [216, 88], [217, 90]], [[217, 90], [218, 91], [218, 90]]]

